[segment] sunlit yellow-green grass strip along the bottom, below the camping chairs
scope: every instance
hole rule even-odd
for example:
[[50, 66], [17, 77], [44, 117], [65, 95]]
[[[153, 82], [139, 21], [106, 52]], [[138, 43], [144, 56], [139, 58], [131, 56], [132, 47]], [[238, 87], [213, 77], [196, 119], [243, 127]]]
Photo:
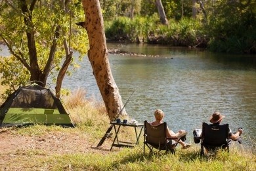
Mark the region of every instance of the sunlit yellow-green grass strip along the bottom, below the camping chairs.
[[[255, 170], [255, 155], [224, 151], [215, 157], [200, 158], [198, 149], [178, 149], [176, 155], [161, 154], [143, 156], [142, 145], [133, 149], [124, 148], [108, 154], [72, 153], [54, 154], [42, 157], [42, 153], [32, 156], [32, 151], [18, 157], [19, 166], [27, 170], [45, 168], [47, 170]], [[34, 159], [33, 159], [34, 158]], [[32, 159], [30, 161], [30, 159]], [[29, 166], [29, 167], [28, 167]]]

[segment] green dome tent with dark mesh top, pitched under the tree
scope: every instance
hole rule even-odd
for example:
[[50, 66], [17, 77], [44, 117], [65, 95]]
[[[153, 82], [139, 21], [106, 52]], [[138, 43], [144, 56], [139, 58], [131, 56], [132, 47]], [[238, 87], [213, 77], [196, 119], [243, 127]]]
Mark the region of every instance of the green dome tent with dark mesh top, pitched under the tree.
[[0, 107], [0, 127], [33, 124], [74, 127], [60, 99], [37, 84], [19, 87]]

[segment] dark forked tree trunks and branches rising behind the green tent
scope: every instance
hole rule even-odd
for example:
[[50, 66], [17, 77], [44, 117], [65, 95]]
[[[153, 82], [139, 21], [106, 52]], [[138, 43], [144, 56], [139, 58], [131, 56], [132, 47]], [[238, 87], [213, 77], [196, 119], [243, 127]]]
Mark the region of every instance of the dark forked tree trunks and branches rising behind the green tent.
[[[37, 26], [35, 23], [33, 23], [33, 16], [37, 15], [37, 12], [33, 12], [34, 8], [38, 8], [37, 7], [37, 0], [31, 0], [31, 1], [26, 1], [26, 0], [18, 0], [18, 3], [14, 3], [14, 1], [3, 1], [3, 4], [5, 5], [9, 5], [9, 7], [12, 8], [12, 10], [20, 13], [20, 10], [22, 11], [22, 17], [23, 17], [23, 21], [24, 21], [24, 25], [26, 27], [24, 27], [24, 31], [26, 31], [26, 39], [28, 40], [27, 42], [27, 46], [28, 46], [28, 53], [26, 52], [26, 54], [28, 54], [29, 59], [26, 59], [26, 55], [24, 55], [24, 51], [25, 50], [17, 50], [19, 48], [12, 48], [15, 47], [15, 43], [14, 46], [12, 46], [12, 41], [8, 41], [7, 39], [3, 38], [5, 44], [7, 44], [10, 52], [12, 55], [14, 55], [14, 57], [16, 57], [16, 59], [18, 59], [23, 65], [24, 67], [26, 67], [26, 69], [28, 69], [28, 71], [30, 72], [30, 82], [35, 82], [41, 86], [45, 86], [47, 83], [47, 78], [49, 77], [50, 72], [53, 69], [53, 63], [54, 63], [54, 58], [56, 55], [56, 50], [58, 50], [58, 40], [60, 39], [60, 36], [62, 36], [62, 34], [66, 34], [68, 35], [68, 33], [64, 33], [65, 29], [62, 29], [62, 25], [59, 25], [58, 22], [53, 21], [54, 25], [53, 25], [53, 37], [51, 37], [51, 47], [50, 47], [50, 52], [49, 52], [49, 57], [46, 61], [46, 65], [45, 67], [43, 67], [43, 65], [39, 65], [39, 60], [38, 60], [38, 54], [37, 54], [37, 46], [36, 46], [36, 38], [38, 35], [38, 30]], [[70, 9], [70, 3], [71, 0], [62, 0], [62, 1], [51, 1], [51, 2], [44, 2], [45, 5], [49, 5], [49, 3], [51, 3], [51, 5], [55, 5], [56, 3], [58, 3], [58, 5], [62, 5], [63, 10], [67, 13], [70, 14], [70, 35], [71, 35], [71, 24], [72, 24], [72, 13], [71, 13], [71, 9]], [[43, 3], [43, 4], [44, 4]], [[17, 5], [17, 6], [16, 6]], [[41, 6], [41, 3], [40, 3]], [[33, 15], [35, 14], [35, 15]], [[15, 32], [15, 31], [14, 31]], [[39, 31], [40, 32], [40, 31]], [[50, 33], [49, 33], [50, 34]], [[48, 37], [48, 35], [47, 35]], [[68, 36], [66, 36], [68, 37]], [[70, 37], [69, 37], [70, 38]], [[15, 40], [14, 40], [15, 42]], [[23, 44], [23, 43], [21, 43]], [[60, 69], [60, 71], [58, 72], [58, 76], [57, 76], [57, 80], [56, 80], [56, 97], [60, 97], [60, 89], [62, 87], [62, 81], [64, 79], [64, 76], [66, 74], [66, 71], [68, 69], [68, 66], [70, 65], [71, 61], [72, 61], [72, 48], [70, 48], [70, 43], [68, 44], [68, 39], [64, 37], [63, 40], [63, 46], [66, 50], [66, 59]], [[23, 45], [22, 45], [23, 46]], [[22, 48], [20, 48], [22, 49]], [[25, 48], [24, 48], [25, 49]], [[46, 51], [46, 50], [45, 50]], [[46, 60], [46, 59], [44, 59]], [[40, 68], [41, 67], [41, 68]], [[28, 80], [26, 80], [28, 81]]]

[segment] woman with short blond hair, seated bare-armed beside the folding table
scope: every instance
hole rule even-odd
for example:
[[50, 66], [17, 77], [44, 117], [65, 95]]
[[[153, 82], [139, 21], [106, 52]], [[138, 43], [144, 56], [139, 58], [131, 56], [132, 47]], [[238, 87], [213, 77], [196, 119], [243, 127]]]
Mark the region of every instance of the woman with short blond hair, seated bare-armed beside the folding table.
[[[160, 109], [156, 110], [154, 112], [154, 116], [155, 116], [156, 121], [153, 121], [152, 123], [150, 123], [152, 126], [157, 126], [157, 125], [160, 125], [161, 123], [163, 123], [164, 113], [162, 110], [160, 110]], [[174, 133], [173, 131], [169, 130], [168, 127], [167, 127], [166, 131], [167, 131], [166, 132], [167, 137], [169, 137], [169, 138], [179, 138], [181, 136], [181, 134], [184, 134], [184, 132], [186, 132], [184, 130], [180, 130], [179, 132]], [[177, 142], [177, 140], [176, 140], [176, 142]], [[173, 145], [173, 144], [175, 144], [175, 140], [169, 140], [168, 144], [171, 148], [175, 148], [175, 145]], [[186, 149], [191, 146], [191, 144], [187, 144], [186, 142], [183, 142], [182, 140], [179, 140], [179, 144], [181, 144], [182, 149]]]

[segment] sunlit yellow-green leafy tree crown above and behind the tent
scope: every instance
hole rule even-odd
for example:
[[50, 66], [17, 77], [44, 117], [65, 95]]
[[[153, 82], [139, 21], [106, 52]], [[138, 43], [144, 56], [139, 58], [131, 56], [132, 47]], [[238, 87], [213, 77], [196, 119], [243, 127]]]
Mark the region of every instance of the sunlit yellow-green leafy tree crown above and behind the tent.
[[[11, 54], [0, 58], [2, 85], [11, 85], [15, 89], [28, 83], [30, 78], [30, 81], [43, 84], [56, 82], [61, 87], [68, 65], [75, 66], [73, 51], [83, 57], [88, 47], [85, 29], [75, 25], [84, 20], [81, 4], [79, 1], [66, 2], [1, 2], [0, 39]], [[58, 80], [60, 74], [63, 77]]]

